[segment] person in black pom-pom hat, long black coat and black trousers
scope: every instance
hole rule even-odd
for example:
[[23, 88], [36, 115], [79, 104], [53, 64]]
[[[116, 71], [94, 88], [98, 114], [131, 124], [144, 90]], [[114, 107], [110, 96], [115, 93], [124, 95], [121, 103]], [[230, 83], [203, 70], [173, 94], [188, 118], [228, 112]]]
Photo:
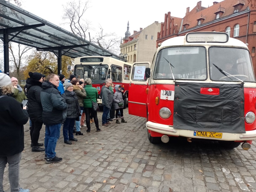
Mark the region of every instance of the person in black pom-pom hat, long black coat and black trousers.
[[31, 119], [31, 130], [30, 130], [30, 138], [32, 152], [41, 152], [45, 151], [44, 148], [39, 146], [43, 146], [43, 143], [38, 143], [40, 130], [42, 129], [43, 120], [42, 120], [42, 112], [43, 107], [41, 104], [41, 90], [42, 90], [42, 78], [41, 73], [32, 73], [29, 72], [29, 77], [26, 80], [27, 87], [27, 98], [29, 100], [29, 117]]

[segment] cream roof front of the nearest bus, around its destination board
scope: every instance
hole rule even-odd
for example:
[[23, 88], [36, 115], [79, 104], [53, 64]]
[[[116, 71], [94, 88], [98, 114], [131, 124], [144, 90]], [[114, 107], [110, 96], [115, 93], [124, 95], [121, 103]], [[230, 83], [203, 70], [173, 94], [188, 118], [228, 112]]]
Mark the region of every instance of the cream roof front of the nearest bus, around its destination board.
[[207, 42], [207, 43], [188, 43], [186, 42], [186, 36], [180, 36], [180, 37], [173, 37], [170, 39], [167, 39], [166, 41], [161, 43], [161, 46], [158, 47], [158, 49], [161, 49], [163, 47], [169, 47], [169, 46], [182, 46], [182, 45], [215, 45], [215, 46], [235, 46], [235, 47], [244, 47], [248, 49], [248, 47], [243, 43], [242, 41], [239, 41], [238, 39], [234, 39], [229, 37], [229, 41], [226, 43], [212, 43], [212, 42]]

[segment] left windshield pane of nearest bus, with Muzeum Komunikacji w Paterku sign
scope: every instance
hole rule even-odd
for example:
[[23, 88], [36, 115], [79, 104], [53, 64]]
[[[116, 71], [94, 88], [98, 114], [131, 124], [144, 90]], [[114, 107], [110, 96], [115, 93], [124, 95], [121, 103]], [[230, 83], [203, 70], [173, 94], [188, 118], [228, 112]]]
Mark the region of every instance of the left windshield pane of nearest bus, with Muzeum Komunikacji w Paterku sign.
[[205, 47], [169, 47], [159, 51], [153, 79], [206, 79]]

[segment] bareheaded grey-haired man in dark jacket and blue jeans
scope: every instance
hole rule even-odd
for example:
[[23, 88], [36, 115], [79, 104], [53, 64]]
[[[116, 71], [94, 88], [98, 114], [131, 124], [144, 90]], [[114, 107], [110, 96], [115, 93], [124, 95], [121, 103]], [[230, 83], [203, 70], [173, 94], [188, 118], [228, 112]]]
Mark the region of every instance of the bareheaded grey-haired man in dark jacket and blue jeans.
[[67, 104], [62, 98], [57, 87], [59, 76], [47, 75], [42, 84], [41, 103], [43, 107], [43, 124], [45, 124], [45, 159], [46, 163], [58, 163], [62, 158], [56, 156], [55, 147], [61, 131], [61, 123], [67, 116]]

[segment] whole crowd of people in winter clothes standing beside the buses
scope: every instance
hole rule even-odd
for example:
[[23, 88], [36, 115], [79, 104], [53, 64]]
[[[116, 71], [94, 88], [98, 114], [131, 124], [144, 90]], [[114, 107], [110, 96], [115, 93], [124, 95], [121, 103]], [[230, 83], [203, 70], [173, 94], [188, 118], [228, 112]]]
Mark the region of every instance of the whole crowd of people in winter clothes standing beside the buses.
[[[115, 91], [114, 91], [115, 90]], [[103, 114], [102, 126], [109, 126], [115, 119], [120, 124], [127, 123], [123, 117], [124, 89], [113, 84], [111, 79], [105, 81], [101, 89]], [[6, 96], [6, 97], [5, 97]], [[99, 132], [97, 110], [98, 91], [92, 86], [90, 78], [77, 79], [70, 75], [65, 79], [63, 74], [29, 72], [24, 90], [18, 79], [0, 73], [0, 191], [3, 191], [3, 173], [9, 165], [11, 191], [29, 192], [19, 187], [19, 165], [24, 149], [23, 125], [30, 119], [31, 151], [45, 151], [46, 163], [58, 163], [62, 158], [56, 156], [55, 147], [63, 126], [64, 143], [78, 141], [74, 138], [83, 135], [82, 127], [90, 133], [91, 123], [95, 123]], [[85, 123], [86, 125], [85, 125]], [[39, 143], [40, 131], [45, 125], [44, 143]], [[44, 146], [44, 147], [43, 147]]]

